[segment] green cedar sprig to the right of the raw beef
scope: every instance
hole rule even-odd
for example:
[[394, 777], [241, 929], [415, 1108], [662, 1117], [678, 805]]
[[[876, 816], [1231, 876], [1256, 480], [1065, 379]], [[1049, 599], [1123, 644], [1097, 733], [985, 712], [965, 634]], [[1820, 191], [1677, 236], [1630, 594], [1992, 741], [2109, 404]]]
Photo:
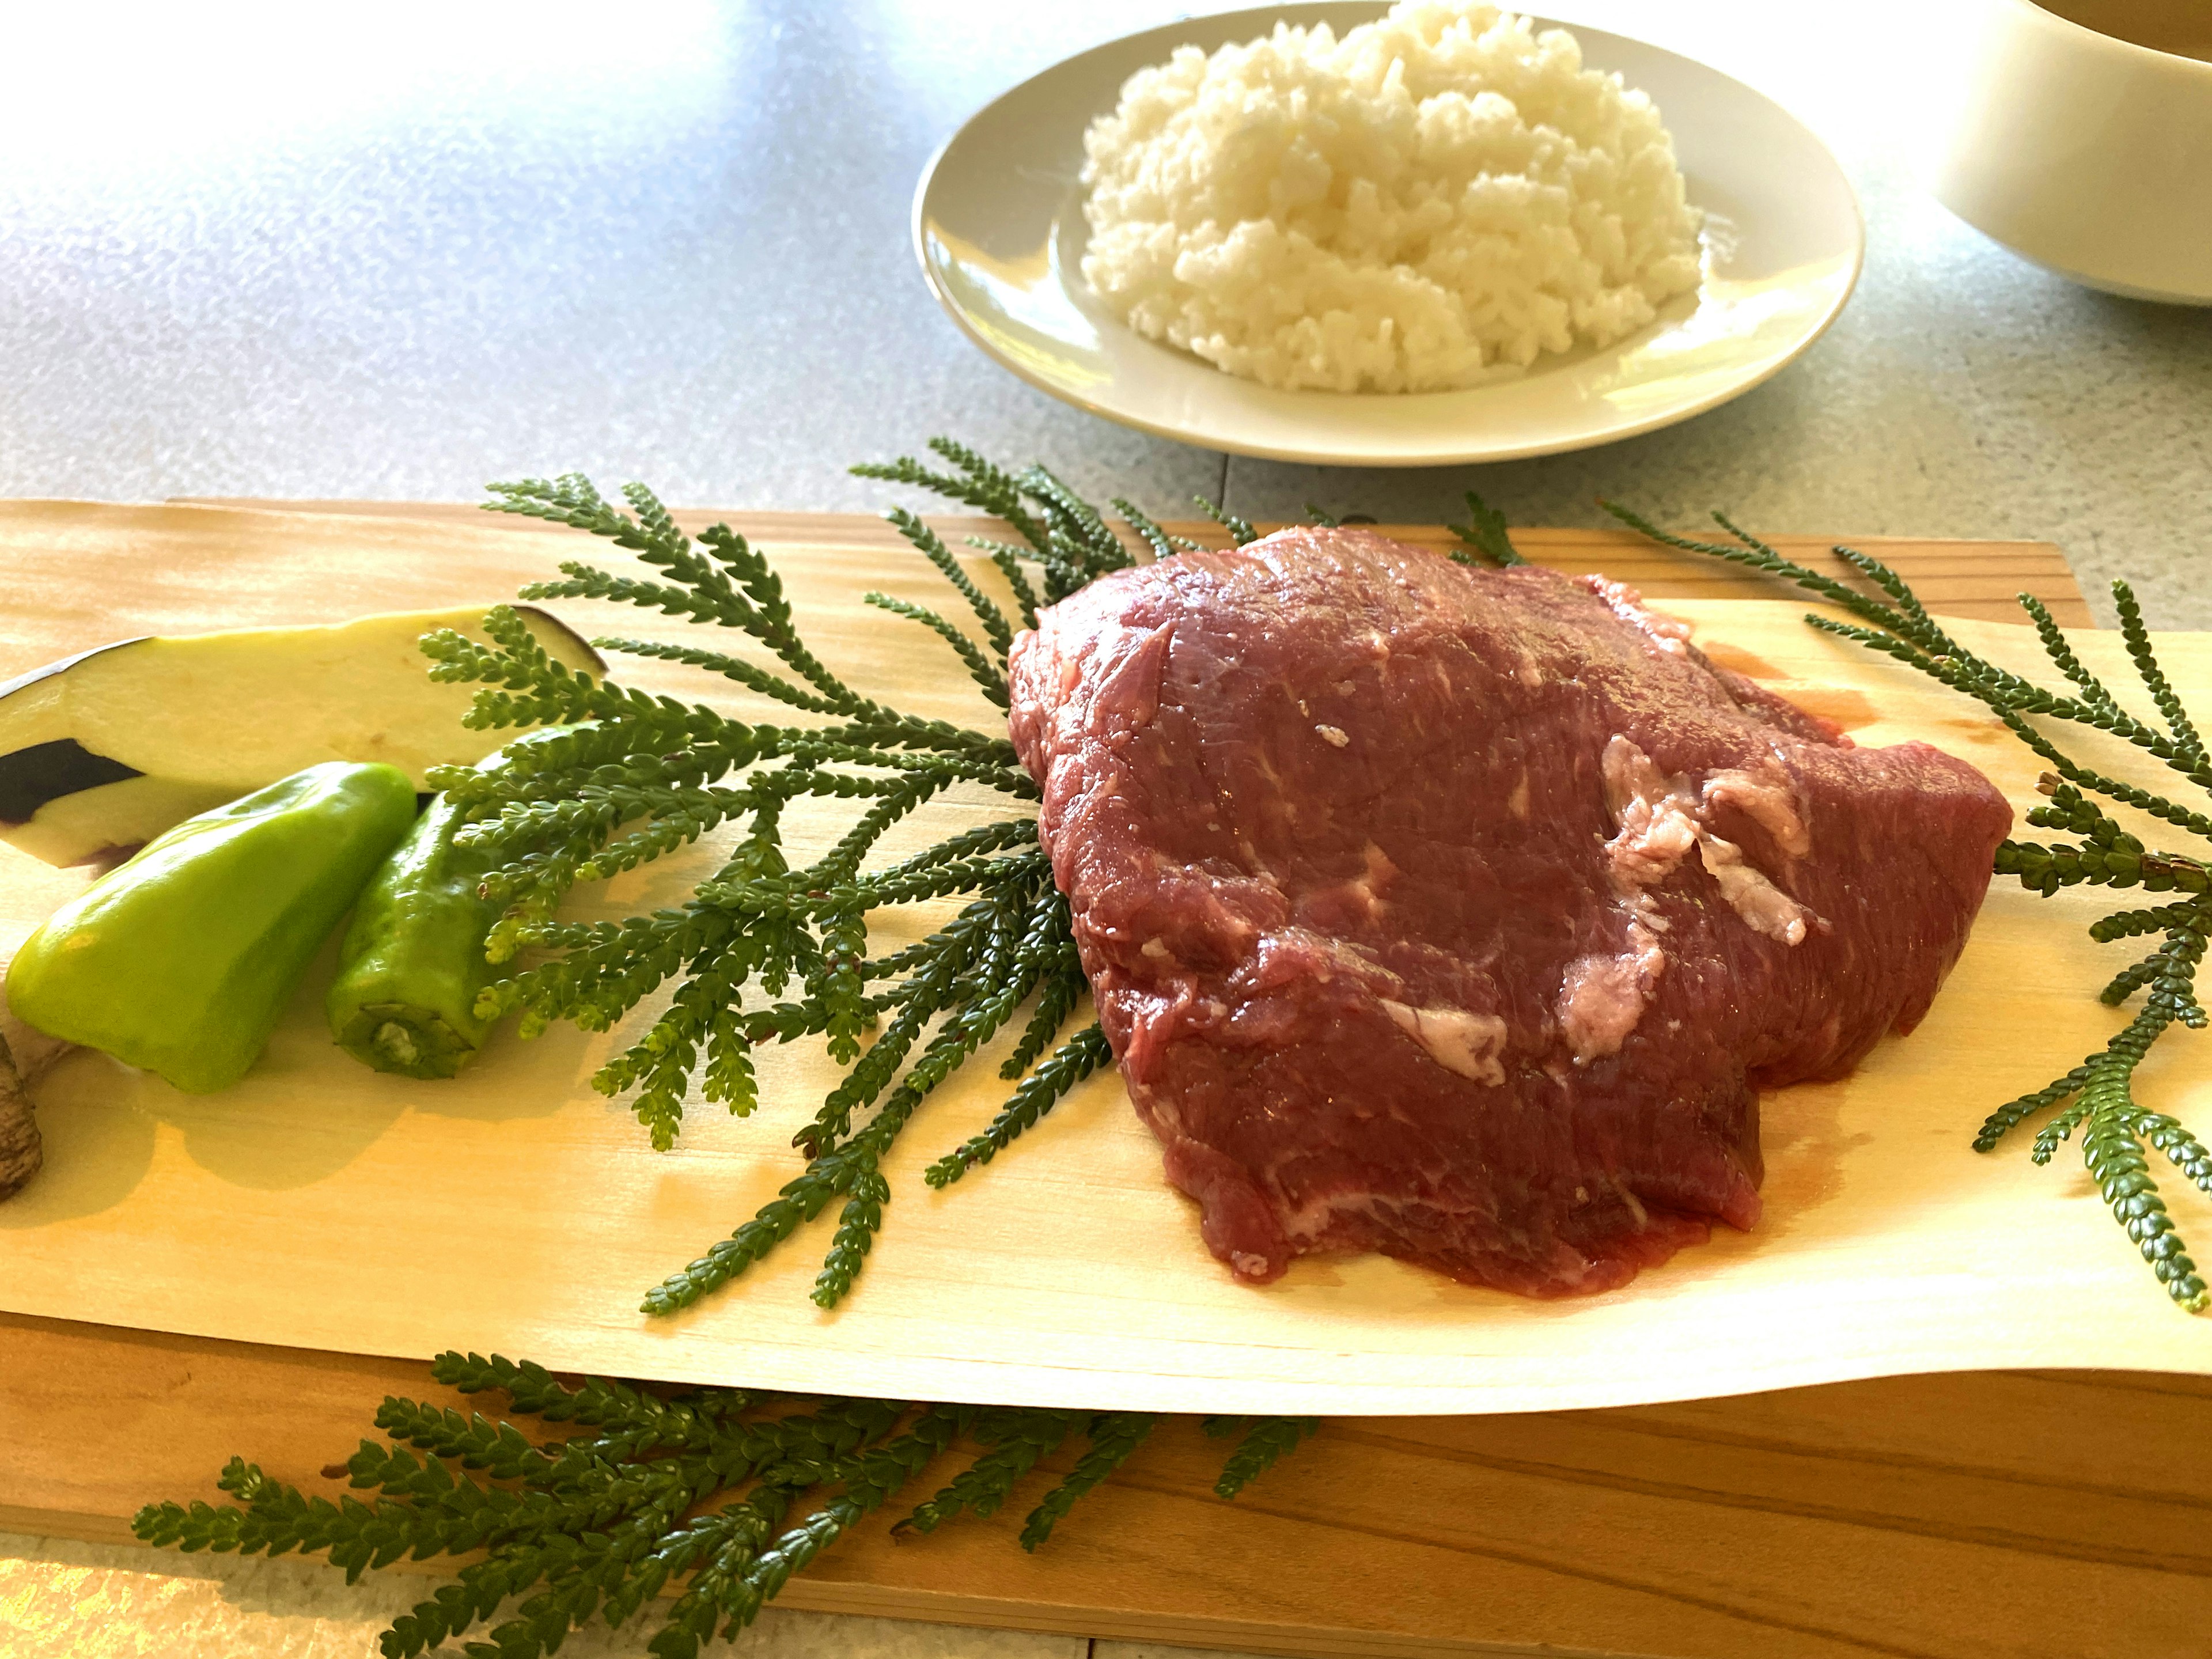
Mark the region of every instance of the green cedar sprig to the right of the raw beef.
[[[2203, 962], [2205, 940], [2212, 938], [2212, 860], [2201, 852], [2148, 849], [2090, 796], [2135, 807], [2199, 838], [2212, 838], [2212, 814], [2077, 763], [2057, 745], [2057, 739], [2035, 723], [2044, 719], [2110, 732], [2157, 759], [2183, 783], [2212, 792], [2212, 757], [2208, 757], [2197, 726], [2159, 666], [2135, 591], [2126, 582], [2115, 582], [2112, 604], [2119, 611], [2128, 659], [2135, 664], [2157, 717], [2143, 717], [2121, 706], [2112, 688], [2081, 664], [2051, 611], [2033, 595], [2022, 593], [2020, 606], [2026, 611], [2044, 655], [2073, 686], [2070, 692], [2035, 686], [1960, 646], [1896, 571], [1856, 549], [1838, 546], [1834, 553], [1863, 575], [1880, 597], [1805, 568], [1754, 535], [1745, 535], [1721, 513], [1714, 513], [1714, 520], [1734, 538], [1732, 544], [1697, 542], [1661, 531], [1613, 502], [1604, 502], [1604, 507], [1655, 542], [1778, 575], [1843, 606], [1854, 622], [1823, 615], [1805, 619], [1814, 628], [1856, 639], [1973, 697], [2035, 750], [2051, 770], [2039, 783], [2046, 803], [2028, 812], [2028, 823], [2037, 830], [2059, 830], [2073, 838], [2048, 845], [2006, 841], [1997, 847], [1995, 858], [2000, 876], [2013, 876], [2022, 887], [2044, 898], [2066, 887], [2139, 887], [2150, 894], [2181, 894], [2174, 902], [2154, 909], [2119, 909], [2090, 925], [2090, 938], [2099, 942], [2159, 936], [2159, 945], [2148, 956], [2115, 973], [2099, 993], [2110, 1006], [2137, 995], [2141, 995], [2141, 1004], [2128, 1024], [2104, 1048], [2084, 1057], [2079, 1066], [1993, 1110], [1982, 1121], [1973, 1146], [1978, 1152], [1989, 1152], [2026, 1119], [2062, 1108], [2037, 1133], [2031, 1157], [2037, 1164], [2048, 1164], [2059, 1144], [2079, 1135], [2081, 1159], [2090, 1179], [2097, 1181], [2104, 1203], [2141, 1250], [2166, 1292], [2190, 1312], [2212, 1307], [2212, 1290], [2188, 1254], [2166, 1199], [2159, 1194], [2157, 1179], [2150, 1175], [2148, 1157], [2148, 1152], [2159, 1152], [2181, 1179], [2212, 1192], [2212, 1150], [2174, 1117], [2152, 1113], [2135, 1099], [2135, 1073], [2152, 1044], [2174, 1024], [2205, 1026], [2205, 1011], [2197, 998], [2197, 969]], [[1475, 522], [1482, 522], [1480, 511]]]

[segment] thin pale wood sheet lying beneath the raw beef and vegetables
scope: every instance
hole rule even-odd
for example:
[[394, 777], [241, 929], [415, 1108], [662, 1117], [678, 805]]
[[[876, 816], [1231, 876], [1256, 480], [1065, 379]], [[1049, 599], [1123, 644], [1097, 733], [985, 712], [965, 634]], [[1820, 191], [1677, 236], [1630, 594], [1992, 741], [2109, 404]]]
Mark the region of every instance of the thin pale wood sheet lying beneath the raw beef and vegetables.
[[[889, 531], [754, 529], [776, 544], [827, 661], [902, 706], [993, 719], [938, 639], [854, 604], [867, 588], [933, 597], [936, 573]], [[0, 672], [139, 630], [495, 599], [555, 557], [615, 553], [484, 518], [219, 507], [27, 504], [0, 513], [0, 538], [15, 595]], [[1717, 653], [1860, 739], [1936, 737], [2015, 801], [2035, 799], [2033, 759], [1991, 719], [1805, 628], [1798, 606], [1668, 602], [1701, 619]], [[575, 611], [591, 630], [670, 630], [635, 611]], [[2004, 639], [2020, 630], [1960, 626], [2026, 664], [2022, 641]], [[2172, 666], [2185, 688], [2212, 692], [2208, 641], [2174, 641]], [[699, 695], [688, 670], [637, 679]], [[971, 814], [945, 803], [914, 834]], [[827, 838], [836, 823], [792, 832]], [[586, 902], [602, 914], [675, 902], [714, 856], [639, 872]], [[75, 880], [0, 860], [0, 942]], [[1199, 1243], [1194, 1206], [1161, 1179], [1110, 1073], [989, 1170], [929, 1192], [922, 1166], [1004, 1099], [995, 1068], [973, 1064], [889, 1159], [887, 1225], [838, 1312], [807, 1301], [825, 1217], [728, 1292], [655, 1321], [637, 1296], [794, 1172], [790, 1135], [834, 1082], [827, 1060], [779, 1051], [763, 1066], [768, 1108], [743, 1121], [697, 1108], [679, 1148], [657, 1155], [586, 1084], [619, 1033], [502, 1042], [460, 1079], [418, 1084], [338, 1055], [310, 982], [263, 1064], [223, 1095], [181, 1097], [100, 1055], [42, 1086], [49, 1168], [0, 1208], [0, 1312], [403, 1358], [462, 1345], [681, 1383], [1166, 1411], [1531, 1411], [2004, 1365], [2212, 1371], [2212, 1323], [2157, 1292], [2077, 1166], [1966, 1148], [1989, 1106], [2112, 1029], [2090, 995], [2110, 964], [2068, 927], [2086, 914], [2070, 898], [1993, 891], [1916, 1037], [1885, 1044], [1849, 1082], [1770, 1097], [1765, 1223], [1723, 1230], [1601, 1298], [1531, 1303], [1378, 1256], [1312, 1259], [1265, 1290], [1237, 1285]], [[887, 918], [885, 936], [936, 916]], [[2161, 1053], [2154, 1086], [2161, 1104], [2192, 1099], [2181, 1055]], [[2199, 1234], [2212, 1232], [2208, 1208], [2177, 1194]]]

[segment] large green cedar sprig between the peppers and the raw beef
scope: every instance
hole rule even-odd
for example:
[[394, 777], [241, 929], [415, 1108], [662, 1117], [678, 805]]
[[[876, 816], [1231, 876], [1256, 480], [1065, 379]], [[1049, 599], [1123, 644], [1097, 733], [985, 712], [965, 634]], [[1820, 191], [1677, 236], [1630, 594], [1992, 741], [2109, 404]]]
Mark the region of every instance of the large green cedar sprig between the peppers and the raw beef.
[[[933, 489], [1011, 524], [1018, 544], [978, 544], [1004, 577], [1013, 613], [907, 509], [887, 513], [891, 526], [947, 580], [967, 619], [880, 593], [865, 602], [936, 633], [982, 697], [1006, 708], [1015, 628], [1135, 555], [1051, 471], [1009, 473], [949, 440], [931, 449], [945, 467], [905, 458], [856, 471]], [[690, 535], [644, 487], [628, 487], [617, 504], [580, 476], [493, 484], [491, 493], [491, 511], [588, 531], [650, 571], [568, 560], [560, 580], [526, 586], [524, 599], [611, 599], [730, 628], [748, 650], [630, 637], [595, 644], [697, 668], [816, 721], [741, 721], [575, 672], [507, 608], [487, 619], [491, 644], [458, 633], [425, 644], [436, 679], [480, 686], [471, 726], [533, 728], [491, 763], [434, 779], [467, 810], [458, 841], [498, 860], [484, 894], [504, 914], [489, 956], [511, 971], [484, 991], [484, 1013], [518, 1013], [524, 1035], [557, 1020], [611, 1031], [646, 998], [666, 995], [659, 1018], [593, 1077], [602, 1093], [628, 1099], [657, 1148], [675, 1144], [695, 1086], [730, 1113], [757, 1110], [752, 1051], [763, 1042], [818, 1040], [847, 1066], [792, 1137], [805, 1157], [799, 1175], [655, 1285], [644, 1310], [697, 1303], [836, 1206], [814, 1287], [814, 1301], [834, 1307], [883, 1228], [885, 1155], [929, 1093], [1006, 1020], [1031, 1009], [1006, 1068], [1020, 1088], [987, 1135], [938, 1170], [989, 1161], [1108, 1060], [1097, 1026], [1060, 1042], [1086, 987], [1035, 818], [989, 818], [900, 863], [872, 863], [885, 834], [947, 790], [982, 787], [1018, 807], [1035, 801], [1035, 785], [1004, 728], [911, 717], [845, 684], [801, 637], [770, 560], [737, 531], [717, 524]], [[1128, 502], [1117, 509], [1155, 555], [1192, 546]], [[807, 796], [852, 801], [856, 814], [827, 854], [794, 869], [783, 814]], [[734, 834], [728, 856], [684, 905], [613, 922], [562, 920], [577, 883], [717, 832]], [[869, 953], [872, 916], [945, 898], [962, 900], [951, 922], [918, 945]], [[931, 1181], [942, 1186], [949, 1177], [938, 1170]]]

